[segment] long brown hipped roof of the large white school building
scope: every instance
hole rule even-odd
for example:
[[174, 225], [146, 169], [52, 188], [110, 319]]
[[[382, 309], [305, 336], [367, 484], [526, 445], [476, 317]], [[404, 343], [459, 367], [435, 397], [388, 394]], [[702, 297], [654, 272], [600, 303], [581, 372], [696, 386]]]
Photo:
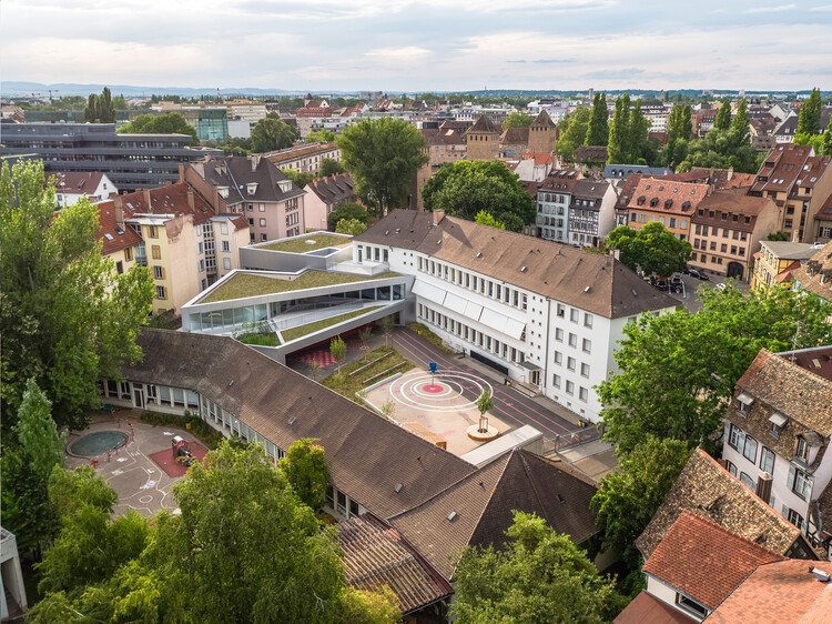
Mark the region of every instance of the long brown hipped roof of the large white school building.
[[455, 217], [434, 225], [430, 212], [394, 210], [355, 240], [416, 250], [608, 319], [678, 303], [610, 255]]

